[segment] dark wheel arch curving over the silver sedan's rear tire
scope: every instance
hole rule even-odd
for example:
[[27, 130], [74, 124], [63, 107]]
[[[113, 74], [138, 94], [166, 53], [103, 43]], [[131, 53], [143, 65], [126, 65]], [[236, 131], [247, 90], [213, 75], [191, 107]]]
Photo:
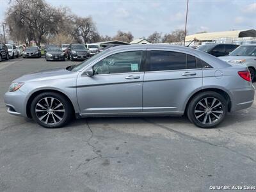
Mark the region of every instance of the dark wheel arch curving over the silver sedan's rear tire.
[[188, 102], [186, 102], [186, 108], [185, 108], [185, 110], [184, 110], [185, 113], [187, 112], [189, 103], [191, 102], [191, 100], [193, 99], [193, 97], [195, 97], [195, 95], [197, 95], [197, 94], [199, 94], [199, 93], [202, 93], [202, 92], [216, 92], [216, 93], [220, 93], [220, 95], [222, 95], [223, 97], [225, 97], [225, 99], [227, 100], [227, 103], [228, 103], [228, 112], [231, 111], [231, 108], [232, 108], [231, 97], [230, 97], [230, 95], [229, 95], [225, 90], [223, 90], [223, 89], [221, 89], [221, 88], [203, 88], [202, 90], [199, 90], [198, 92], [193, 93], [193, 94], [189, 97]]

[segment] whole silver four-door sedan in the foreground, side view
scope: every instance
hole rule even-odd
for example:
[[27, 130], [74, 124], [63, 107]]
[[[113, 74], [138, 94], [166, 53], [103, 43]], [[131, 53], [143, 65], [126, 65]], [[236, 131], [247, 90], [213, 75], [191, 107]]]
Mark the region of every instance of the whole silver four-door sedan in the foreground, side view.
[[89, 60], [15, 79], [8, 113], [47, 128], [72, 116], [186, 114], [198, 127], [220, 124], [228, 111], [249, 108], [255, 88], [244, 65], [170, 45], [123, 45]]

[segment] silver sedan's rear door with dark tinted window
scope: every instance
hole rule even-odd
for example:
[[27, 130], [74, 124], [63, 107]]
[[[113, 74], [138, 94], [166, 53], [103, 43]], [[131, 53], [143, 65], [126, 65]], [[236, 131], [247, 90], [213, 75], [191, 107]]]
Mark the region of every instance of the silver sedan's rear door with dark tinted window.
[[175, 50], [148, 51], [143, 112], [182, 115], [189, 95], [202, 88], [200, 60]]

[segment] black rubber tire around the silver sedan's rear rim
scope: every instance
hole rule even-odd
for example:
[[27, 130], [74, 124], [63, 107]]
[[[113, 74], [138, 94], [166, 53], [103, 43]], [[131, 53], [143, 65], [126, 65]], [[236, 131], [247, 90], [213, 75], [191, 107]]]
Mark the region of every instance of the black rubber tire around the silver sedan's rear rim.
[[[205, 98], [207, 100], [207, 104], [206, 104], [206, 102], [204, 100]], [[200, 101], [204, 100], [204, 103], [207, 106], [210, 107], [211, 102], [214, 102], [214, 99], [216, 99], [217, 102], [215, 102], [216, 104], [213, 104], [212, 107], [214, 107], [217, 104], [219, 104], [219, 102], [221, 104], [219, 106], [217, 106], [216, 108], [212, 108], [212, 110], [211, 109], [207, 109], [207, 108], [202, 108], [201, 110], [204, 111], [204, 112], [198, 112], [199, 110], [196, 109], [196, 108], [201, 107], [200, 104], [199, 104]], [[207, 111], [207, 110], [209, 110], [209, 111]], [[217, 110], [218, 111], [222, 111], [222, 113], [219, 113], [219, 112], [217, 113]], [[213, 128], [213, 127], [216, 127], [217, 125], [221, 124], [221, 122], [223, 122], [225, 116], [227, 115], [227, 111], [228, 111], [227, 100], [225, 99], [225, 97], [220, 95], [220, 93], [216, 93], [216, 92], [202, 92], [202, 93], [196, 94], [191, 99], [191, 101], [189, 102], [188, 109], [187, 109], [187, 115], [188, 115], [189, 120], [193, 124], [195, 124], [197, 127]], [[204, 115], [203, 115], [203, 113], [204, 113]], [[207, 113], [209, 113], [209, 114], [207, 114]], [[198, 115], [196, 116], [195, 114], [198, 114]], [[217, 116], [220, 115], [220, 116], [218, 116], [218, 118], [216, 118], [216, 116], [214, 116], [214, 115], [217, 115]], [[206, 116], [206, 122], [204, 123], [205, 116]], [[210, 119], [211, 119], [211, 122], [210, 122]]]

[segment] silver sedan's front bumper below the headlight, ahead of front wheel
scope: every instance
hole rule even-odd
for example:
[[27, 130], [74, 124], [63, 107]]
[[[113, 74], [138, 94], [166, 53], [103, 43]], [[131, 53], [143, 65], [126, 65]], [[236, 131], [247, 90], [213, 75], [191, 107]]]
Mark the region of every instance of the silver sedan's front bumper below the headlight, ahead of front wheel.
[[27, 117], [26, 96], [26, 93], [21, 90], [17, 90], [16, 92], [6, 92], [4, 95], [4, 103], [8, 108], [7, 112], [12, 115]]

